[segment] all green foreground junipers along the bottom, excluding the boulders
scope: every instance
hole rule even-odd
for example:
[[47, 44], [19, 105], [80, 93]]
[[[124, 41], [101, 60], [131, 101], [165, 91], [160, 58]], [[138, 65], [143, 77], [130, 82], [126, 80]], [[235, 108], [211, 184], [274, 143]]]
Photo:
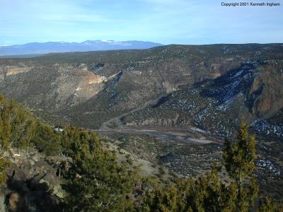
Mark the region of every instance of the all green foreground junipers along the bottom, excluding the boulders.
[[[248, 135], [246, 124], [241, 125], [236, 139], [226, 141], [223, 162], [214, 165], [207, 176], [176, 178], [175, 182], [161, 184], [152, 177], [141, 179], [136, 167], [119, 163], [115, 153], [103, 148], [98, 136], [90, 131], [71, 126], [54, 131], [3, 96], [0, 117], [1, 182], [6, 181], [4, 170], [8, 167], [4, 153], [11, 147], [34, 146], [47, 155], [60, 153], [71, 158], [63, 172], [67, 196], [62, 199], [62, 211], [249, 211], [258, 198], [253, 177], [255, 138]], [[218, 175], [224, 167], [228, 184]], [[139, 204], [129, 197], [136, 182], [143, 184]], [[269, 198], [262, 199], [257, 208], [283, 210]]]

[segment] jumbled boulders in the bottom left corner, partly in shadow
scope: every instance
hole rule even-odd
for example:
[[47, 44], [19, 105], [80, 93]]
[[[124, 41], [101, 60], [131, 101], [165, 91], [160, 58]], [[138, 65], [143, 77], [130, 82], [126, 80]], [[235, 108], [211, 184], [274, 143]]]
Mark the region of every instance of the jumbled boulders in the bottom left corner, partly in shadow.
[[[62, 162], [70, 158], [45, 157], [35, 149], [11, 150], [5, 189], [9, 211], [57, 210], [66, 195], [61, 187]], [[44, 199], [44, 201], [42, 201]]]

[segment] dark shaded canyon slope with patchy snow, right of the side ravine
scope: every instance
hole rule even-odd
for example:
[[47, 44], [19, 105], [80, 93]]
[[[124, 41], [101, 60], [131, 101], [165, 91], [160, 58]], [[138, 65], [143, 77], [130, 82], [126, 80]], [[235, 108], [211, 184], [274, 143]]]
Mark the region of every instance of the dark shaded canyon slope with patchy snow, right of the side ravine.
[[[281, 138], [282, 121], [268, 124], [283, 108], [280, 63], [243, 63], [219, 78], [177, 90], [156, 105], [127, 114], [122, 121], [129, 126], [198, 127], [212, 134], [231, 136], [245, 117], [260, 134], [272, 129], [274, 136]], [[260, 129], [263, 120], [265, 129]]]

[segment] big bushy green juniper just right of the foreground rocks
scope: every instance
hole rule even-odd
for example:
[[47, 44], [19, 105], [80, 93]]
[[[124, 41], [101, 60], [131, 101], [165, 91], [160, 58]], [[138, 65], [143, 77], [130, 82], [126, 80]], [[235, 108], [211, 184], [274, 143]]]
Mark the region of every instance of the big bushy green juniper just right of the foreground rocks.
[[65, 173], [67, 211], [127, 211], [132, 200], [136, 170], [120, 164], [115, 154], [106, 151], [96, 134], [67, 129], [70, 148], [65, 154], [73, 159]]

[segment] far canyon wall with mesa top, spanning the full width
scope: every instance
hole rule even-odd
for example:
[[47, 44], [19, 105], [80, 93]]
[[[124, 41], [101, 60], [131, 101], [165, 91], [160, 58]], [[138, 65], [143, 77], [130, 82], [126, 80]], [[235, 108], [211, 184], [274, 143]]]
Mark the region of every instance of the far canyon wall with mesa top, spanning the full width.
[[[0, 93], [33, 110], [65, 117], [86, 128], [98, 128], [113, 117], [139, 110], [146, 102], [182, 92], [190, 98], [184, 101], [200, 104], [199, 111], [192, 110], [190, 116], [199, 114], [205, 118], [200, 112], [209, 100], [228, 104], [233, 97], [233, 110], [227, 114], [219, 111], [220, 117], [225, 114], [231, 119], [241, 115], [248, 119], [268, 119], [282, 107], [282, 59], [282, 45], [253, 44], [171, 45], [145, 50], [1, 59]], [[13, 67], [10, 71], [13, 74], [4, 74], [8, 67]], [[200, 92], [204, 88], [201, 86], [207, 90], [214, 86], [216, 93], [224, 91], [213, 98], [203, 96], [204, 93], [189, 94], [187, 90]], [[185, 104], [180, 102], [181, 95], [178, 98], [178, 103], [168, 102], [176, 107]], [[156, 114], [163, 111], [162, 105], [156, 107]], [[239, 108], [243, 112], [238, 112]], [[211, 117], [210, 114], [212, 112], [207, 117]], [[157, 122], [154, 116], [141, 122]], [[167, 116], [170, 114], [162, 114], [158, 122], [199, 123], [199, 119], [192, 121], [194, 118], [187, 114], [174, 113], [169, 119]], [[168, 121], [161, 121], [165, 119]]]

